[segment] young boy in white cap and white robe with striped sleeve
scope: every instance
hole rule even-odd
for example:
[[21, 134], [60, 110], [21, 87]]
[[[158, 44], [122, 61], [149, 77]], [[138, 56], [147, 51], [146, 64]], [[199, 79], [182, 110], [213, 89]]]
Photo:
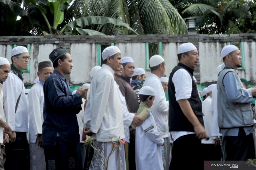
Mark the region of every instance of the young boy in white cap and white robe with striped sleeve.
[[136, 170], [164, 169], [160, 148], [160, 146], [164, 145], [164, 138], [157, 132], [155, 119], [151, 110], [149, 110], [149, 107], [154, 103], [154, 99], [155, 91], [152, 87], [143, 86], [140, 89], [140, 107], [137, 115], [146, 109], [149, 117], [136, 128]]

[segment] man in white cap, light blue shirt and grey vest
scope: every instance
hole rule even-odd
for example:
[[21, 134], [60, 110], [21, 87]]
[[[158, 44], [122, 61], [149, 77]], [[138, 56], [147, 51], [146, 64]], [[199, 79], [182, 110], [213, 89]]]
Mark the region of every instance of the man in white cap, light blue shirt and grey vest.
[[221, 57], [225, 66], [217, 80], [217, 106], [223, 159], [255, 159], [251, 102], [256, 89], [245, 89], [238, 78], [236, 69], [242, 66], [242, 57], [235, 45], [222, 48]]

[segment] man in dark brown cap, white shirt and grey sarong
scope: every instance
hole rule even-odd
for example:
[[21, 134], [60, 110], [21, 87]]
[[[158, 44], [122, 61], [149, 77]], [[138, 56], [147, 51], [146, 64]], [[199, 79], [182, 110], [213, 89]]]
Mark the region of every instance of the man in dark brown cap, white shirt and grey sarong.
[[44, 82], [53, 72], [50, 61], [38, 63], [38, 80], [28, 92], [29, 152], [30, 169], [45, 170], [44, 149], [42, 148], [42, 125], [44, 122]]

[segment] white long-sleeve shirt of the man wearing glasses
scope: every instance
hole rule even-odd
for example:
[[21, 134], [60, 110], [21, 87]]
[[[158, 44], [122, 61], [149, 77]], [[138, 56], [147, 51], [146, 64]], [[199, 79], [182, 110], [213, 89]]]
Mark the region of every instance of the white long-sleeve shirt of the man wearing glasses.
[[[3, 83], [3, 94], [7, 124], [14, 131], [28, 132], [28, 101], [23, 81], [15, 74], [9, 73], [9, 77]], [[15, 106], [19, 96], [20, 101], [15, 113]]]

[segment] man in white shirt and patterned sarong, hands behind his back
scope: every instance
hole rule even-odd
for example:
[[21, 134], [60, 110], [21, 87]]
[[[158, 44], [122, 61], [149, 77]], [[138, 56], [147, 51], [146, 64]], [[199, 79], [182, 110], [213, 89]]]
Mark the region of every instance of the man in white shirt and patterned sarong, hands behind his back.
[[[114, 80], [114, 72], [122, 64], [121, 58], [121, 52], [116, 46], [105, 48], [102, 52], [103, 65], [93, 76], [90, 87], [91, 129], [86, 134], [96, 134], [93, 145], [104, 157], [111, 152], [113, 141], [124, 138], [122, 106]], [[108, 159], [108, 169], [126, 169], [123, 145], [116, 144], [117, 147]], [[98, 152], [94, 152], [90, 169], [106, 169], [104, 159]]]

